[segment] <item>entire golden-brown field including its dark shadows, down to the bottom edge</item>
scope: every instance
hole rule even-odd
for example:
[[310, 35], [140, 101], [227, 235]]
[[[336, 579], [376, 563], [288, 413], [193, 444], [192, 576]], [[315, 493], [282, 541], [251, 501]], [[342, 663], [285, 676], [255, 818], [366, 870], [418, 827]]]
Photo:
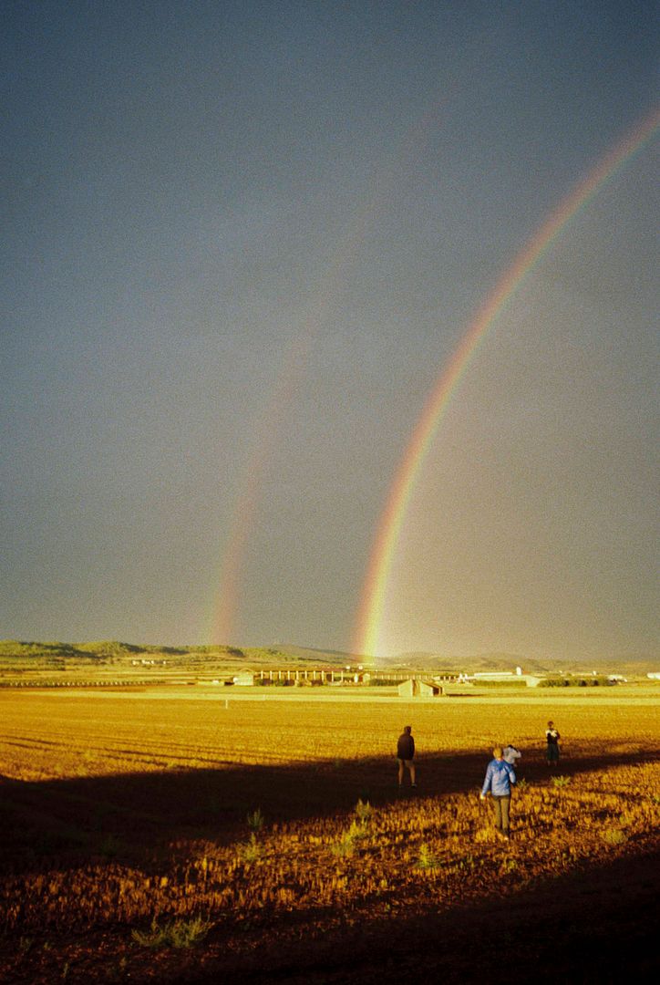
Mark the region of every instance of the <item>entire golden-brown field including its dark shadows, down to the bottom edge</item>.
[[0, 690], [0, 981], [656, 978], [657, 691], [226, 690]]

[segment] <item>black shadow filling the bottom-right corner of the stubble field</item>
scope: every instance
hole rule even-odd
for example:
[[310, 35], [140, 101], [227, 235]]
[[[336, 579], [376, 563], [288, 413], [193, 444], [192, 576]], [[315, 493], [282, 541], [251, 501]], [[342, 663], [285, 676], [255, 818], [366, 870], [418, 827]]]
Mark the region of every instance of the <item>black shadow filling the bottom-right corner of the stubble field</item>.
[[[603, 860], [479, 901], [351, 925], [313, 941], [280, 933], [257, 953], [218, 952], [186, 982], [231, 985], [635, 985], [657, 981], [658, 854]], [[179, 980], [177, 977], [176, 980]], [[181, 977], [183, 980], [183, 977]]]

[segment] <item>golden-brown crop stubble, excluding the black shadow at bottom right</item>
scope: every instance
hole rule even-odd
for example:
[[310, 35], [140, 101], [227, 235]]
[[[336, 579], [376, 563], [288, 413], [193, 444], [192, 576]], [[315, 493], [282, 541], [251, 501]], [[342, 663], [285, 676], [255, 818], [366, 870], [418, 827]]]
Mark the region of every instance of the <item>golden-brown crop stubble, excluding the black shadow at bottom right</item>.
[[[4, 692], [0, 708], [5, 810], [20, 828], [5, 844], [5, 931], [16, 942], [111, 930], [103, 967], [128, 948], [134, 976], [130, 930], [154, 920], [202, 917], [204, 964], [214, 948], [240, 956], [278, 928], [308, 945], [657, 847], [654, 700]], [[563, 737], [562, 785], [544, 761], [549, 717]], [[418, 743], [417, 796], [396, 790], [404, 724]], [[478, 787], [490, 749], [508, 741], [523, 750], [526, 786], [504, 849]], [[257, 808], [264, 823], [250, 833]], [[31, 953], [10, 948], [16, 980], [34, 973]], [[103, 980], [91, 958], [77, 960]]]

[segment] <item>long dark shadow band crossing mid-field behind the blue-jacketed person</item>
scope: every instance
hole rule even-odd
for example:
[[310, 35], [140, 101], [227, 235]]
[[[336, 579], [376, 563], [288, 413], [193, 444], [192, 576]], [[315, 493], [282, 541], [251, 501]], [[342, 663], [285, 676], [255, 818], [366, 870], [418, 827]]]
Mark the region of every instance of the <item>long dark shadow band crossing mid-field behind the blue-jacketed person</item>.
[[[602, 772], [657, 757], [647, 752], [601, 755], [593, 744], [562, 761], [555, 772]], [[224, 845], [245, 839], [247, 815], [257, 810], [268, 828], [348, 816], [359, 799], [380, 807], [470, 790], [476, 796], [488, 759], [483, 752], [421, 755], [418, 788], [405, 786], [402, 791], [389, 756], [38, 782], [0, 777], [0, 873], [62, 870], [90, 862], [149, 868], [177, 840]], [[526, 756], [518, 772], [530, 784], [551, 782], [540, 753]]]

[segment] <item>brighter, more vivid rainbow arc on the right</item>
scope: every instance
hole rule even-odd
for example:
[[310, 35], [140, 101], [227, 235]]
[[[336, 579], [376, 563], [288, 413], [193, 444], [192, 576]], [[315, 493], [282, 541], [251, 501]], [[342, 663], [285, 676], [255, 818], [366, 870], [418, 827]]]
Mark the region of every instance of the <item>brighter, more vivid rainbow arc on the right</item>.
[[598, 189], [630, 158], [651, 140], [660, 126], [660, 109], [654, 110], [617, 144], [593, 170], [564, 198], [559, 207], [534, 233], [518, 253], [511, 266], [495, 285], [470, 323], [460, 345], [443, 367], [427, 405], [408, 443], [404, 457], [385, 503], [364, 579], [362, 602], [358, 612], [354, 652], [375, 657], [382, 623], [385, 593], [390, 567], [406, 518], [411, 495], [419, 478], [429, 448], [442, 416], [456, 393], [461, 379], [477, 348], [507, 300], [515, 293], [527, 274], [536, 266], [566, 223], [586, 205]]

